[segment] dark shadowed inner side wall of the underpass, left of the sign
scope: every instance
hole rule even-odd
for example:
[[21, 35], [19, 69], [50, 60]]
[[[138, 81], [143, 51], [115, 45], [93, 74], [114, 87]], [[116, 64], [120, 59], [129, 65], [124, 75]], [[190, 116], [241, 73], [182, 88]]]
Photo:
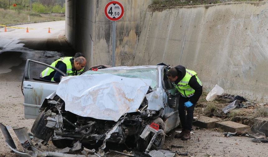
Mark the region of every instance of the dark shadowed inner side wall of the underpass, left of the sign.
[[[87, 59], [86, 69], [93, 65], [93, 37], [95, 21], [95, 0], [65, 1], [66, 38], [76, 52]], [[91, 38], [92, 37], [92, 38]]]

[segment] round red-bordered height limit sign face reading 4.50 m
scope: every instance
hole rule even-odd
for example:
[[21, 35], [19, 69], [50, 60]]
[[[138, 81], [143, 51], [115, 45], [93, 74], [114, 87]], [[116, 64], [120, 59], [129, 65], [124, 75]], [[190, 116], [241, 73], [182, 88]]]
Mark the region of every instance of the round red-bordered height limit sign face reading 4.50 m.
[[117, 1], [111, 1], [106, 4], [104, 13], [109, 20], [117, 21], [123, 16], [124, 8], [121, 3]]

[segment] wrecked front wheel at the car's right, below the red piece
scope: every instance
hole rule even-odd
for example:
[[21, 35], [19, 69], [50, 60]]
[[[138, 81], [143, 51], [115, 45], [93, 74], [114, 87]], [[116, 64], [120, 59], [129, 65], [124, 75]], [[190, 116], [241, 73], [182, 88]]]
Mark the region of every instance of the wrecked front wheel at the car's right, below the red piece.
[[[164, 121], [158, 117], [154, 120], [151, 120], [149, 121], [149, 124], [151, 123], [155, 123], [155, 124], [158, 124], [159, 125], [159, 129], [162, 129], [163, 131], [165, 131], [165, 123]], [[138, 149], [141, 150], [141, 151], [144, 151], [146, 150], [146, 148], [148, 147], [149, 143], [151, 142], [153, 136], [155, 134], [154, 133], [150, 133], [146, 140], [142, 139], [141, 137], [139, 138], [138, 140]], [[150, 150], [159, 150], [160, 148], [162, 148], [163, 144], [164, 144], [164, 141], [165, 141], [165, 135], [163, 134], [158, 134], [155, 138], [155, 140], [153, 141], [152, 145], [151, 145], [151, 148]]]

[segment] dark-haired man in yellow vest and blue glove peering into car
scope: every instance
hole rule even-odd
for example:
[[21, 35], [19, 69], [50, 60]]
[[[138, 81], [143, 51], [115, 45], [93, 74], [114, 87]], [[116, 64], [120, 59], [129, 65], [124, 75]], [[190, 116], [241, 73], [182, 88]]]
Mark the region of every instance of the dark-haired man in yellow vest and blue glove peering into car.
[[[189, 140], [190, 131], [192, 130], [194, 107], [200, 98], [203, 88], [202, 83], [197, 77], [196, 72], [185, 69], [184, 66], [178, 65], [167, 71], [170, 82], [179, 91], [179, 118], [182, 125], [182, 132], [175, 135], [175, 138]], [[187, 110], [187, 116], [185, 114]]]

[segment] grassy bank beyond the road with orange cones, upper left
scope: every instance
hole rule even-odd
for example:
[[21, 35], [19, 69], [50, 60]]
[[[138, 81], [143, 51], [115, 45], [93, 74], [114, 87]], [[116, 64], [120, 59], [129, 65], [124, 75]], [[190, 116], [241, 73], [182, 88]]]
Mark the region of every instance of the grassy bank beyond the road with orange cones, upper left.
[[65, 17], [41, 17], [39, 13], [35, 12], [28, 12], [28, 11], [21, 11], [19, 14], [15, 12], [15, 10], [10, 9], [3, 9], [0, 8], [0, 25], [8, 25], [12, 23], [22, 23], [22, 22], [29, 22], [28, 16], [30, 16], [31, 21], [61, 21], [65, 20]]

